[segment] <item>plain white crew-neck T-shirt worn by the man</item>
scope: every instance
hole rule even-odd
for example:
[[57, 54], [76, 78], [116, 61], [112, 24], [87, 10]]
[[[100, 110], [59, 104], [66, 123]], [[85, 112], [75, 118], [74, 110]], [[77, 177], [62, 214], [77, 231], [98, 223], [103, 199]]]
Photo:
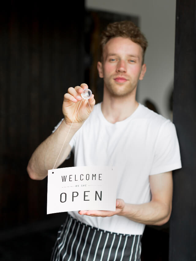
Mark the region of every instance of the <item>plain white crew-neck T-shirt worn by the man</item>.
[[[70, 145], [74, 166], [118, 166], [117, 198], [141, 204], [151, 199], [149, 175], [181, 168], [179, 143], [174, 124], [139, 104], [134, 113], [112, 124], [101, 111], [101, 104], [79, 129]], [[123, 216], [71, 216], [100, 229], [123, 234], [143, 234], [145, 225]]]

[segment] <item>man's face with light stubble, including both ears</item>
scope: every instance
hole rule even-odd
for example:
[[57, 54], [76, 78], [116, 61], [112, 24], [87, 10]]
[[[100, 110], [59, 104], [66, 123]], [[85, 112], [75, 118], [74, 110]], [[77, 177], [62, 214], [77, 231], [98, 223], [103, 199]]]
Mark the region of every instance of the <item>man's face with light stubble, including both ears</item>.
[[112, 96], [125, 96], [136, 91], [146, 65], [142, 65], [142, 48], [129, 38], [110, 39], [103, 50], [103, 62], [98, 62], [99, 76], [104, 78], [104, 88]]

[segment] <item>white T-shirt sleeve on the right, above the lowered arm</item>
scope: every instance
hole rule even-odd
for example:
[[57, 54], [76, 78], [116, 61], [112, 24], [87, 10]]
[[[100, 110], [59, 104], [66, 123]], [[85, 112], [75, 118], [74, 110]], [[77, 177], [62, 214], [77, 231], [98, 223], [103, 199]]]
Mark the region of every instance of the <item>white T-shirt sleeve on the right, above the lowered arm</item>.
[[167, 120], [160, 127], [150, 175], [180, 169], [181, 159], [175, 125]]

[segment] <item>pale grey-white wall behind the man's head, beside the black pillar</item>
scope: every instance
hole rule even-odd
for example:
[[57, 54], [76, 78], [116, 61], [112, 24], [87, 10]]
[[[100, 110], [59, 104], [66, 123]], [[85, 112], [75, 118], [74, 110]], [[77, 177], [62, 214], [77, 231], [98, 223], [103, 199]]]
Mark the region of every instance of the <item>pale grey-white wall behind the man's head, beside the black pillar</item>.
[[169, 118], [168, 95], [174, 78], [175, 0], [86, 0], [87, 9], [136, 15], [149, 46], [147, 72], [139, 84], [138, 101], [151, 99]]

